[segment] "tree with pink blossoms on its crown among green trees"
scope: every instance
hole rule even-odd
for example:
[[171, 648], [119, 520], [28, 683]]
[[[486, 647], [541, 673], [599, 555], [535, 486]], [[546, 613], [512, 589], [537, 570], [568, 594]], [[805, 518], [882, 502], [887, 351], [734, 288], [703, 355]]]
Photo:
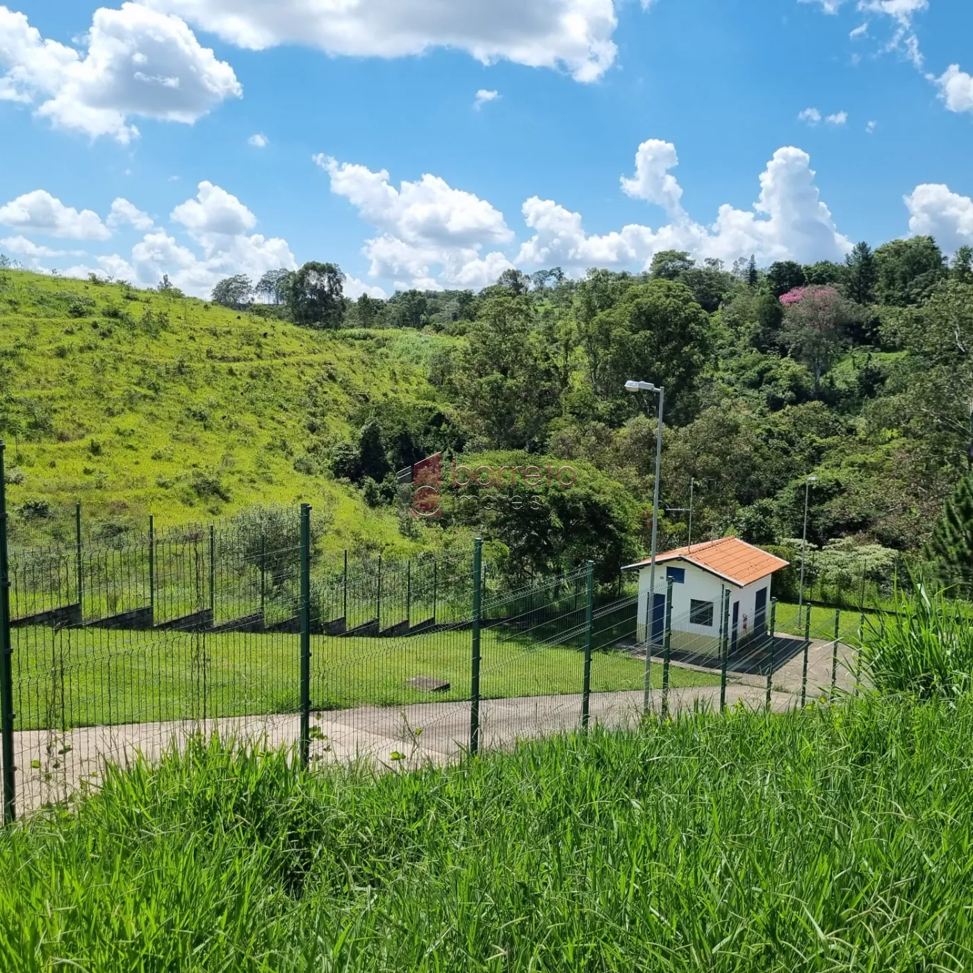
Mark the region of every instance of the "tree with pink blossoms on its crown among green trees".
[[848, 326], [858, 320], [858, 307], [833, 287], [797, 287], [780, 296], [784, 325], [780, 336], [791, 355], [814, 376], [814, 393], [847, 342]]

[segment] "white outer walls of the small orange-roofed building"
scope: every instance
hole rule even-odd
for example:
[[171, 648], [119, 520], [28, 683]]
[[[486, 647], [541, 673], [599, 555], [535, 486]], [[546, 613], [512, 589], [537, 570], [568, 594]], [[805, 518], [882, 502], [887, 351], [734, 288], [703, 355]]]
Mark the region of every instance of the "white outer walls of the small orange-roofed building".
[[[720, 611], [724, 591], [730, 592], [730, 622], [733, 623], [733, 606], [739, 602], [738, 635], [742, 639], [753, 631], [754, 615], [756, 612], [757, 592], [768, 589], [767, 612], [770, 621], [771, 608], [771, 579], [768, 575], [745, 588], [732, 585], [709, 571], [704, 571], [686, 560], [669, 560], [656, 565], [656, 593], [665, 595], [667, 592], [667, 567], [681, 567], [686, 571], [684, 584], [672, 585], [672, 644], [679, 648], [696, 648], [699, 651], [709, 651], [718, 645], [720, 633]], [[647, 623], [649, 621], [649, 575], [650, 568], [643, 567], [638, 576], [638, 640], [647, 638]], [[693, 625], [689, 621], [690, 602], [711, 601], [713, 603], [712, 626]], [[745, 619], [745, 622], [744, 622]]]

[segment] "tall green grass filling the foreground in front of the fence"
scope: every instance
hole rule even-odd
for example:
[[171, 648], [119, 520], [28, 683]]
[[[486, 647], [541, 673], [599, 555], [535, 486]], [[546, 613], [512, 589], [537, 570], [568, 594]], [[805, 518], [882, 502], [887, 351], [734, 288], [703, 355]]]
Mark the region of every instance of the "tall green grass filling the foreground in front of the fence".
[[0, 835], [0, 968], [968, 969], [970, 739], [870, 694], [378, 779], [199, 743]]

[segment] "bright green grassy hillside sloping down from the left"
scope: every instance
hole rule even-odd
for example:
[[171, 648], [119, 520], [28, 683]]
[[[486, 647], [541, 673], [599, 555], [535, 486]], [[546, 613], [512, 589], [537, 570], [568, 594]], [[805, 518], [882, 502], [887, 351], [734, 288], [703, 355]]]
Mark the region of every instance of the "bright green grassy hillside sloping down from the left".
[[424, 362], [449, 341], [311, 331], [124, 284], [7, 271], [0, 434], [12, 507], [39, 526], [77, 501], [92, 521], [152, 513], [166, 525], [307, 501], [334, 546], [408, 543], [394, 512], [336, 483], [326, 459], [382, 400], [434, 405]]

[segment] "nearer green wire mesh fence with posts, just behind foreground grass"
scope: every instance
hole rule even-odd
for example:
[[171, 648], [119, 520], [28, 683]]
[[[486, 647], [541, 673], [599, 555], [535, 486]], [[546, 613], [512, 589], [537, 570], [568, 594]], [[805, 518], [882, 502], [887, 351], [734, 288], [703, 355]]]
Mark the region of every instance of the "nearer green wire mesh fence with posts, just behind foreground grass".
[[38, 548], [8, 549], [7, 525], [0, 505], [8, 819], [198, 734], [416, 766], [850, 685], [848, 613], [771, 606], [742, 637], [727, 602], [703, 635], [664, 584], [656, 631], [633, 579], [599, 589], [591, 563], [514, 578], [479, 542], [405, 560], [325, 552], [306, 507]]

